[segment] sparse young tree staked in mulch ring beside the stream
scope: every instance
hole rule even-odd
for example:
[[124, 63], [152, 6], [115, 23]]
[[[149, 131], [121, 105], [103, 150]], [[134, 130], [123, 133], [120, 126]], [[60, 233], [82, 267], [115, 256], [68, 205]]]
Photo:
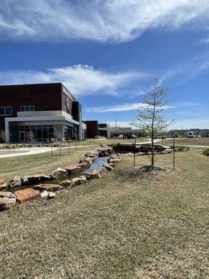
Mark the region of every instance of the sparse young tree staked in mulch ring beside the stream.
[[154, 137], [159, 133], [164, 133], [165, 130], [173, 123], [164, 119], [163, 111], [168, 105], [165, 100], [169, 88], [161, 86], [159, 80], [154, 80], [153, 90], [146, 93], [144, 100], [139, 106], [137, 120], [131, 124], [137, 128], [143, 129], [150, 135], [151, 138], [151, 167], [155, 165], [154, 153]]

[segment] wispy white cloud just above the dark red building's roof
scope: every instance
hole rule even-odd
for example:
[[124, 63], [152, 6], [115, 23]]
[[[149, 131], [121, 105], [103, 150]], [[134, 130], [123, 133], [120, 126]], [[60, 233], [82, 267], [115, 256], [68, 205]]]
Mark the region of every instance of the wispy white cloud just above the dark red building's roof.
[[63, 82], [75, 96], [93, 94], [112, 95], [123, 93], [123, 89], [134, 80], [148, 77], [146, 73], [121, 72], [107, 73], [87, 65], [65, 68], [49, 68], [45, 72], [30, 70], [10, 70], [0, 72], [0, 84], [29, 84]]

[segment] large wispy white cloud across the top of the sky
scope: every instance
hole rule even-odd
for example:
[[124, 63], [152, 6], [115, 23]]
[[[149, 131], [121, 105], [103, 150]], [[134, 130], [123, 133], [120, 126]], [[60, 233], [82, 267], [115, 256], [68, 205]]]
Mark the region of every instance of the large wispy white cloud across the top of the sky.
[[1, 40], [125, 42], [148, 29], [208, 27], [208, 0], [1, 0]]

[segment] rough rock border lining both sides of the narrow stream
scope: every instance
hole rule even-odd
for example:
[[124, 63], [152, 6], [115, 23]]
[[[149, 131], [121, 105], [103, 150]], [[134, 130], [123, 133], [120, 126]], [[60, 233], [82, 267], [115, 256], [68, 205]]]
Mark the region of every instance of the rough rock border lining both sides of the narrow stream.
[[[109, 157], [107, 164], [93, 172], [84, 172], [83, 175], [67, 179], [70, 174], [81, 172], [86, 167], [89, 167], [98, 157]], [[23, 203], [31, 199], [42, 197], [43, 199], [50, 199], [55, 196], [56, 191], [65, 190], [66, 188], [73, 188], [82, 185], [93, 179], [98, 179], [105, 171], [111, 171], [121, 159], [118, 154], [114, 153], [111, 146], [104, 146], [103, 149], [98, 149], [95, 152], [88, 152], [79, 160], [77, 165], [70, 165], [68, 167], [58, 167], [51, 174], [34, 174], [29, 176], [15, 176], [10, 181], [0, 180], [0, 209], [10, 209], [17, 202]], [[60, 179], [66, 177], [65, 180], [59, 184], [41, 183], [52, 179]], [[35, 185], [36, 184], [36, 185]], [[34, 185], [34, 186], [33, 186]], [[31, 186], [22, 190], [16, 190], [11, 193], [8, 190], [21, 188], [24, 186]]]

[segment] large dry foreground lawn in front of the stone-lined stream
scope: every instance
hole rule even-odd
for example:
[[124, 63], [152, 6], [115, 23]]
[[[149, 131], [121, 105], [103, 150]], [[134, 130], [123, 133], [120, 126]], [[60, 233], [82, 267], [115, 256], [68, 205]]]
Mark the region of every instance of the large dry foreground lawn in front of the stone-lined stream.
[[102, 179], [1, 212], [0, 278], [206, 279], [209, 160], [200, 150], [176, 153], [176, 170], [157, 175], [123, 157]]

